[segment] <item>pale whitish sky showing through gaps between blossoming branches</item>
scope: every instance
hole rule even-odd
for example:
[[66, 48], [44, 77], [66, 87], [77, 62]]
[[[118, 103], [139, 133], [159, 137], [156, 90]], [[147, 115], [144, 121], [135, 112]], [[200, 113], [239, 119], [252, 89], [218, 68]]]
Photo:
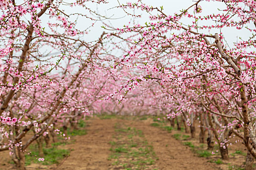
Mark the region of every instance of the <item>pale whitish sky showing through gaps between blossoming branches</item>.
[[[68, 1], [68, 0], [67, 0]], [[73, 0], [72, 0], [73, 1]], [[125, 12], [120, 9], [120, 8], [113, 8], [115, 6], [118, 6], [120, 4], [125, 4], [127, 1], [131, 2], [137, 2], [138, 0], [108, 0], [108, 4], [101, 4], [101, 5], [96, 5], [95, 3], [87, 3], [87, 7], [91, 9], [95, 9], [95, 12], [106, 16], [110, 17], [111, 19], [107, 20], [102, 20], [102, 21], [91, 21], [89, 19], [84, 19], [82, 17], [79, 17], [77, 20], [77, 27], [81, 30], [88, 29], [90, 30], [89, 34], [84, 35], [84, 40], [86, 42], [97, 40], [99, 35], [102, 34], [104, 30], [101, 28], [101, 26], [104, 25], [105, 22], [106, 24], [113, 25], [115, 28], [122, 28], [123, 25], [127, 25], [129, 21], [131, 21], [131, 17], [128, 17]], [[24, 0], [16, 0], [17, 4], [23, 3]], [[153, 7], [160, 7], [163, 6], [163, 12], [167, 15], [174, 15], [175, 13], [179, 14], [180, 10], [182, 9], [187, 9], [189, 6], [194, 4], [196, 1], [195, 0], [142, 0], [143, 3], [146, 3], [150, 6]], [[209, 15], [209, 14], [216, 14], [218, 10], [224, 9], [224, 3], [223, 2], [218, 2], [218, 1], [210, 1], [207, 2], [205, 0], [201, 1], [199, 3], [202, 6], [202, 13], [200, 15]], [[81, 13], [81, 14], [88, 14], [83, 8], [81, 7], [74, 7], [70, 8], [68, 6], [62, 5], [60, 7], [66, 14], [71, 14], [71, 13]], [[191, 9], [193, 11], [194, 7]], [[127, 9], [127, 11], [132, 12], [130, 9]], [[149, 14], [147, 14], [145, 11], [140, 11], [137, 10], [136, 14], [141, 14], [142, 17], [140, 19], [136, 19], [136, 23], [139, 23], [141, 25], [144, 25], [145, 22], [149, 22]], [[156, 13], [155, 13], [156, 14]], [[47, 22], [49, 21], [48, 16], [42, 16], [40, 18], [43, 23], [42, 26], [47, 28]], [[69, 19], [71, 20], [76, 20], [77, 17], [71, 16]], [[44, 22], [45, 21], [45, 22]], [[192, 20], [188, 18], [183, 18], [181, 20], [183, 24], [192, 24]], [[215, 24], [213, 21], [198, 21], [200, 25], [205, 25], [205, 24]], [[94, 27], [91, 27], [92, 23], [95, 23]], [[43, 25], [44, 24], [44, 25]], [[251, 24], [251, 28], [254, 28], [254, 25]], [[182, 30], [181, 30], [182, 31]], [[234, 46], [234, 43], [236, 43], [237, 39], [239, 37], [246, 39], [249, 36], [251, 36], [250, 32], [246, 32], [244, 30], [242, 31], [237, 31], [236, 29], [230, 29], [230, 28], [224, 28], [221, 30], [224, 37], [226, 38], [227, 44], [229, 44], [230, 47]], [[208, 32], [201, 32], [205, 34], [215, 34], [219, 33], [219, 30], [211, 30], [210, 33]], [[214, 39], [210, 39], [210, 41], [214, 41]], [[49, 49], [41, 49], [42, 51], [47, 51]]]

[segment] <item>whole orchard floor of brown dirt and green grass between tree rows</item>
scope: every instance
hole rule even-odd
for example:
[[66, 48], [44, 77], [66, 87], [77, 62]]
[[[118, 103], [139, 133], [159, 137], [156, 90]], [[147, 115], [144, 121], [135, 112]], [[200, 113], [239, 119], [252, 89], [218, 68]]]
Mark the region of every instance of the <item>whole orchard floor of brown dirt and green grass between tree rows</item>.
[[[241, 144], [230, 150], [229, 161], [222, 161], [219, 154], [206, 150], [206, 144], [168, 125], [146, 117], [91, 118], [86, 120], [86, 135], [73, 136], [70, 142], [58, 146], [69, 150], [68, 156], [58, 164], [31, 163], [27, 170], [242, 169], [245, 152]], [[0, 170], [14, 168], [7, 152], [0, 157]]]

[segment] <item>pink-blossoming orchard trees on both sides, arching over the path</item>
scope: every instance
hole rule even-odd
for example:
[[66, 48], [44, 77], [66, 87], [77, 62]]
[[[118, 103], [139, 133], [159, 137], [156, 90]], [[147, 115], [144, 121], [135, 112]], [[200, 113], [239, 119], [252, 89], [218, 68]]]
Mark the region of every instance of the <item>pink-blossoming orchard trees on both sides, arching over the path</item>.
[[[9, 150], [24, 170], [27, 147], [41, 136], [48, 141], [59, 125], [65, 132], [85, 115], [158, 112], [171, 122], [180, 116], [192, 137], [199, 118], [200, 142], [208, 130], [209, 147], [216, 140], [223, 159], [235, 134], [248, 149], [250, 167], [256, 158], [256, 1], [198, 0], [172, 16], [163, 7], [128, 2], [114, 9], [132, 22], [105, 24], [105, 32], [85, 41], [91, 25], [78, 22], [108, 19], [88, 7], [105, 3], [0, 2], [0, 151]], [[209, 3], [216, 4], [213, 14], [204, 11]], [[143, 24], [141, 11], [149, 17]], [[242, 38], [229, 40], [231, 32]], [[29, 132], [34, 135], [25, 139]]]

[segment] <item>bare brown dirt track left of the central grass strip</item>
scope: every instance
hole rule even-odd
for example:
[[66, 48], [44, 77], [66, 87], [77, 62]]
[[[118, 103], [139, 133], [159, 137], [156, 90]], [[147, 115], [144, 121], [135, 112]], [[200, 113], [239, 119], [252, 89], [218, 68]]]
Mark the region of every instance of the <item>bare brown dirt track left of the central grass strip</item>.
[[109, 141], [115, 132], [117, 119], [88, 120], [87, 135], [76, 136], [76, 142], [67, 145], [70, 156], [56, 170], [108, 170], [111, 161]]

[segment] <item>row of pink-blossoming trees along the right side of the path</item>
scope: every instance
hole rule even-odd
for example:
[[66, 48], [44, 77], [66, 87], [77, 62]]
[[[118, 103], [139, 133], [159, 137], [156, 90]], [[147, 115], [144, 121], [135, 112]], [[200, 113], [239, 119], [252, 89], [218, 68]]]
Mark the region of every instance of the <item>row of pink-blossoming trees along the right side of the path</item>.
[[[128, 14], [128, 8], [135, 11], [133, 17], [146, 11], [150, 20], [113, 29], [119, 36], [135, 37], [114, 67], [138, 69], [139, 76], [131, 78], [124, 93], [147, 86], [156, 96], [146, 97], [152, 93], [145, 91], [145, 99], [154, 100], [170, 119], [180, 116], [192, 137], [199, 118], [200, 142], [208, 130], [209, 147], [215, 138], [222, 159], [229, 158], [229, 136], [241, 138], [251, 169], [256, 158], [256, 1], [217, 1], [198, 0], [172, 16], [141, 1], [118, 6]], [[207, 3], [216, 4], [218, 13], [204, 13]]]

